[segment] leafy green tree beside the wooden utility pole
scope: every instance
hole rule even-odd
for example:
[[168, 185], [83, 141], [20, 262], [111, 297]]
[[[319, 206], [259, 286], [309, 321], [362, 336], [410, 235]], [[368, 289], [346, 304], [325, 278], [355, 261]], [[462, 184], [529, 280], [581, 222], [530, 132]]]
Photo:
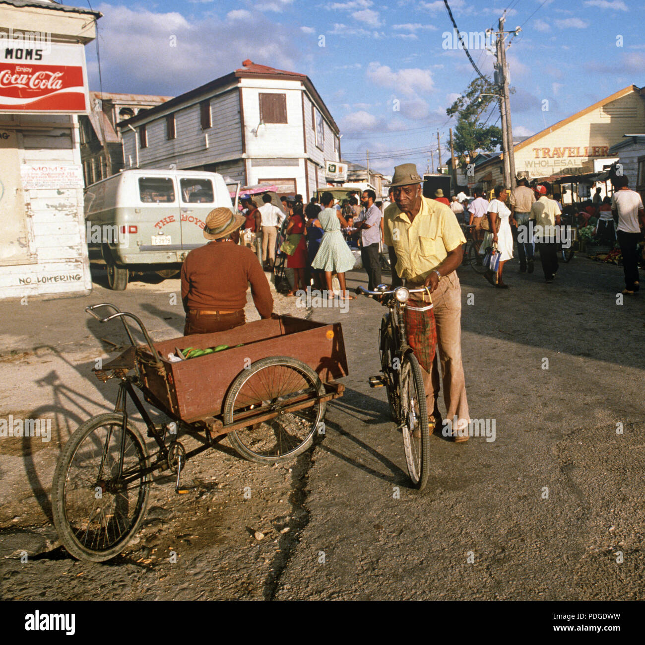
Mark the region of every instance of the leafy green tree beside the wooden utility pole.
[[493, 95], [499, 93], [499, 88], [488, 77], [477, 77], [446, 110], [448, 116], [459, 114], [455, 127], [455, 155], [462, 166], [466, 164], [466, 156], [470, 161], [477, 156], [477, 150], [494, 150], [501, 145], [502, 130], [479, 122], [486, 108], [497, 101]]

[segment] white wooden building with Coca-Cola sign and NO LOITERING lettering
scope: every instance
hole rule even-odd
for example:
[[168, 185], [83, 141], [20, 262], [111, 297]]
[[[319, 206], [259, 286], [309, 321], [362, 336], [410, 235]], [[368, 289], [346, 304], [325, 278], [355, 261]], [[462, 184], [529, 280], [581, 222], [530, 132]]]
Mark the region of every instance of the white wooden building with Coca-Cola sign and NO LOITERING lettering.
[[2, 0], [0, 298], [92, 288], [78, 115], [89, 108], [84, 45], [101, 14]]

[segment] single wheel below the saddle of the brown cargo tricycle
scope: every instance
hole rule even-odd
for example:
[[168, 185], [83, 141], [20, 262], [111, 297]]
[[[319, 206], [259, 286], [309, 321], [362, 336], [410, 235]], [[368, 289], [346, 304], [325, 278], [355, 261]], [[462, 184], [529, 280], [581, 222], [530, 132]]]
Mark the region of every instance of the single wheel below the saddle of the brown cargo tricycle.
[[123, 415], [94, 416], [65, 445], [52, 482], [54, 525], [79, 560], [103, 562], [121, 553], [143, 522], [150, 492], [148, 451], [128, 422], [123, 467]]

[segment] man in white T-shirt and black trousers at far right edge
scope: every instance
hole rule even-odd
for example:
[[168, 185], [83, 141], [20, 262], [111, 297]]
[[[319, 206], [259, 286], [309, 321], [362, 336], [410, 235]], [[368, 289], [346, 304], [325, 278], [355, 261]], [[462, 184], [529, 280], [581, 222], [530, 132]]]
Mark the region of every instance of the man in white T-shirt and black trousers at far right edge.
[[[624, 294], [633, 294], [640, 289], [639, 242], [642, 240], [641, 223], [645, 222], [645, 210], [640, 195], [628, 188], [629, 179], [620, 175], [611, 179], [614, 194], [611, 196], [611, 212], [618, 216], [617, 238], [622, 253], [622, 270], [625, 274]], [[639, 221], [640, 220], [640, 221]]]

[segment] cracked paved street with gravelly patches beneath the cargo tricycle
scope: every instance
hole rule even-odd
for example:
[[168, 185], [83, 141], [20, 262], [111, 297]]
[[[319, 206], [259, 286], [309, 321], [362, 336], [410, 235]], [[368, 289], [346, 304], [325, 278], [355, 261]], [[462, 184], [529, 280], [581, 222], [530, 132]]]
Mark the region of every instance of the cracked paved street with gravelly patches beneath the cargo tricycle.
[[[102, 565], [59, 547], [48, 497], [61, 444], [114, 396], [90, 369], [110, 347], [101, 338], [123, 338], [83, 309], [114, 302], [155, 339], [172, 338], [183, 326], [181, 304], [170, 304], [179, 283], [0, 303], [0, 418], [55, 420], [49, 444], [0, 439], [2, 596], [643, 599], [645, 301], [617, 304], [622, 269], [584, 257], [561, 265], [552, 285], [539, 262], [533, 275], [517, 271], [509, 263], [501, 291], [459, 270], [470, 413], [495, 420], [496, 436], [459, 445], [433, 436], [425, 491], [408, 487], [385, 392], [366, 382], [379, 369], [382, 308], [359, 299], [347, 313], [309, 312], [280, 297], [281, 313], [343, 323], [350, 376], [324, 441], [266, 468], [223, 440], [188, 463], [190, 495], [175, 495], [167, 476], [153, 487], [135, 543]], [[359, 283], [364, 272], [348, 274]]]

